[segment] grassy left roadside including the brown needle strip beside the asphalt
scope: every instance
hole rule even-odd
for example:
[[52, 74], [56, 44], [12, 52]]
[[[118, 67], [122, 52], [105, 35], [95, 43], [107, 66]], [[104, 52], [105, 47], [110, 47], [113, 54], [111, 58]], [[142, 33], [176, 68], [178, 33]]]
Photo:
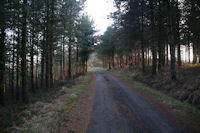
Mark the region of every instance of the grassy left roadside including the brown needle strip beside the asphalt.
[[[95, 78], [94, 74], [87, 73], [75, 79], [70, 85], [66, 83], [43, 96], [42, 99], [26, 105], [21, 111], [12, 112], [9, 116], [1, 116], [1, 120], [8, 120], [12, 124], [0, 131], [6, 133], [86, 132], [95, 94]], [[8, 108], [3, 110], [1, 109], [1, 112], [6, 112]]]

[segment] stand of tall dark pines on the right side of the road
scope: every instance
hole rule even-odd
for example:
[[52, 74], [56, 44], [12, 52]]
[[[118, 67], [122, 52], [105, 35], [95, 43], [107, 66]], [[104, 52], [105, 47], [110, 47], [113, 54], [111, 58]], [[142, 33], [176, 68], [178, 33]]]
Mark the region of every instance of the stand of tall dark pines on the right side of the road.
[[[115, 0], [115, 23], [101, 37], [98, 55], [105, 67], [152, 66], [152, 74], [182, 65], [181, 46], [193, 48], [193, 64], [200, 62], [200, 3], [197, 0]], [[184, 53], [185, 54], [185, 53]], [[199, 61], [198, 61], [199, 60]], [[170, 62], [170, 63], [169, 63]]]

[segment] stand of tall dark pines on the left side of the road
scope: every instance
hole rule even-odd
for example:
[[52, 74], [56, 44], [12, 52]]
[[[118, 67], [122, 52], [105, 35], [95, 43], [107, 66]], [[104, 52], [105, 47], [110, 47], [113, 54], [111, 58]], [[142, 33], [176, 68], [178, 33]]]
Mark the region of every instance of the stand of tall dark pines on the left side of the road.
[[84, 0], [0, 1], [0, 104], [29, 102], [87, 72], [93, 22], [80, 13]]

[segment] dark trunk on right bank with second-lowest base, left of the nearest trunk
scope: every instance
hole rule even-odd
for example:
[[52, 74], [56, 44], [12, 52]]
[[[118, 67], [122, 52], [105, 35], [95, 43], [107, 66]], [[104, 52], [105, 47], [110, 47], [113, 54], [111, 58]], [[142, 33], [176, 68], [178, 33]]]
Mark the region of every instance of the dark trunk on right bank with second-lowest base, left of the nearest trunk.
[[156, 47], [154, 42], [154, 7], [153, 1], [150, 1], [151, 8], [151, 46], [152, 46], [152, 55], [153, 55], [153, 64], [152, 64], [152, 74], [156, 75], [156, 67], [157, 67], [157, 55], [156, 55]]

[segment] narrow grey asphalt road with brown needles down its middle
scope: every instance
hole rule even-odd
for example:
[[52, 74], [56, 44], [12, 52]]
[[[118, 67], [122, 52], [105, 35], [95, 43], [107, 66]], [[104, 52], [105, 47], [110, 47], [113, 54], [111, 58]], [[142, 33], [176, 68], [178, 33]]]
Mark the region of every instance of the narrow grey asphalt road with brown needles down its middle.
[[106, 72], [97, 75], [88, 133], [181, 133], [167, 116]]

